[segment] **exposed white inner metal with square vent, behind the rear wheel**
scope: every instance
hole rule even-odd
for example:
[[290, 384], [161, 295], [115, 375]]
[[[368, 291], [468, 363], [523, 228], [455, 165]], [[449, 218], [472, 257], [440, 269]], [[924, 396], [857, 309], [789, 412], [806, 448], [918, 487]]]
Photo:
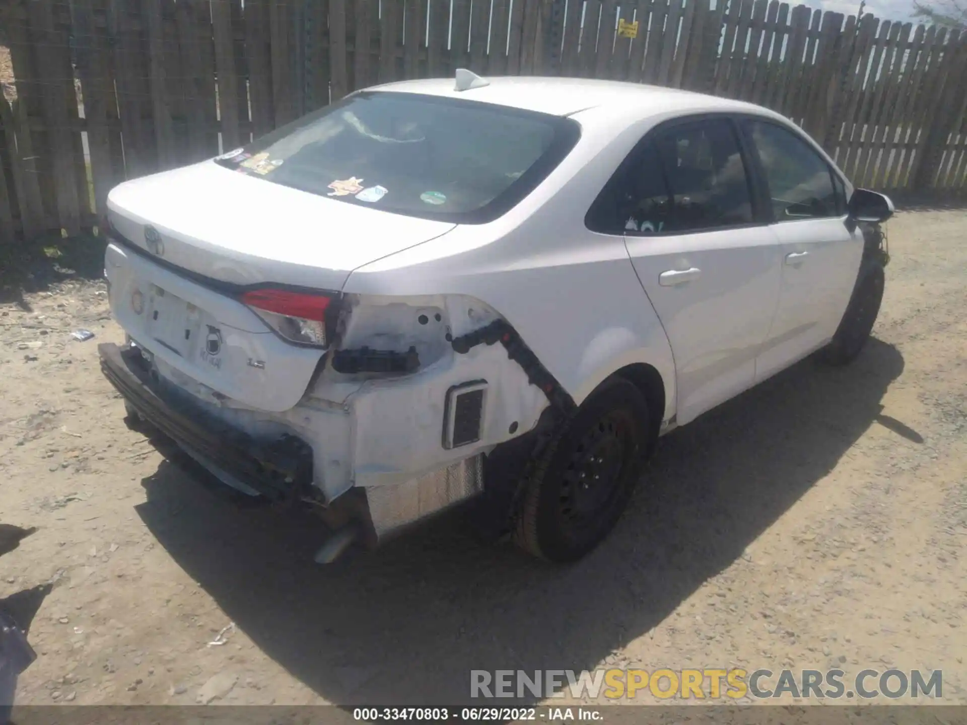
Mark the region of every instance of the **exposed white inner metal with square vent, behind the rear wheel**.
[[[366, 347], [402, 353], [413, 348], [420, 361], [412, 373], [389, 375], [345, 374], [327, 365], [309, 391], [308, 399], [349, 414], [355, 485], [403, 483], [492, 449], [537, 424], [547, 397], [529, 383], [503, 345], [481, 344], [466, 354], [454, 352], [454, 337], [495, 319], [498, 315], [489, 306], [460, 295], [346, 296], [339, 350]], [[480, 439], [447, 449], [443, 443], [447, 393], [479, 381], [486, 385]], [[333, 492], [329, 483], [340, 473], [323, 464], [327, 493]]]

